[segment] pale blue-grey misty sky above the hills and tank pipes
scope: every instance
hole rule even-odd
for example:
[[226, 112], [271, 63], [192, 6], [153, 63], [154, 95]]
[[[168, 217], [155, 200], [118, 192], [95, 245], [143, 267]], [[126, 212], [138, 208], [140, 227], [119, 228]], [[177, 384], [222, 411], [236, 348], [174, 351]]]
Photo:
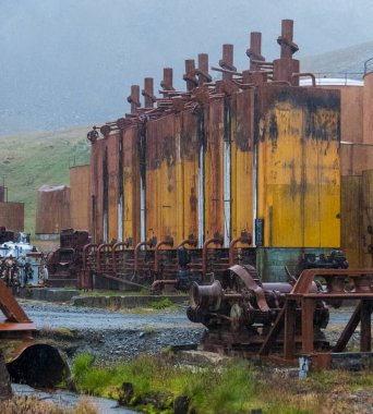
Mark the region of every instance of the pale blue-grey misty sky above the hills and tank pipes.
[[184, 59], [234, 45], [245, 69], [250, 32], [278, 57], [281, 19], [294, 20], [298, 57], [373, 40], [373, 1], [0, 0], [0, 135], [116, 120], [131, 84], [164, 66], [184, 87]]

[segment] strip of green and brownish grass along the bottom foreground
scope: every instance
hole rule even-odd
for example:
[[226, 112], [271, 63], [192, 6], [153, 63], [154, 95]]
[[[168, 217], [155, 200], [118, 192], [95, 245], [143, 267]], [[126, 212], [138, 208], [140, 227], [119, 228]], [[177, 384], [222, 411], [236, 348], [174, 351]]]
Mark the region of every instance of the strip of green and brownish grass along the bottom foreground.
[[79, 391], [154, 414], [173, 413], [178, 397], [189, 401], [189, 413], [194, 414], [243, 414], [255, 409], [263, 414], [344, 413], [358, 390], [370, 395], [373, 389], [372, 372], [323, 372], [299, 380], [242, 360], [204, 368], [180, 366], [168, 352], [161, 358], [143, 355], [105, 368], [82, 354], [72, 373]]

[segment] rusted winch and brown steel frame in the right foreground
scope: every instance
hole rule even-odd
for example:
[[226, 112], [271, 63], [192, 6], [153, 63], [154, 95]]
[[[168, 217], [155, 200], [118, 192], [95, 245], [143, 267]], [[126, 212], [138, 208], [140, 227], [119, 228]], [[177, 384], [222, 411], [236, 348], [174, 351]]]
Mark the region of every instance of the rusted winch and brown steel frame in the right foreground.
[[[342, 268], [325, 264], [325, 268], [305, 269], [280, 283], [261, 283], [253, 267], [234, 265], [220, 281], [193, 283], [188, 317], [208, 328], [200, 349], [288, 364], [309, 355], [315, 368], [333, 367], [338, 366], [338, 357], [346, 356], [360, 324], [356, 355], [372, 364], [373, 269], [346, 269], [344, 260], [340, 264]], [[354, 312], [330, 344], [323, 331], [328, 308], [347, 300], [356, 304]]]

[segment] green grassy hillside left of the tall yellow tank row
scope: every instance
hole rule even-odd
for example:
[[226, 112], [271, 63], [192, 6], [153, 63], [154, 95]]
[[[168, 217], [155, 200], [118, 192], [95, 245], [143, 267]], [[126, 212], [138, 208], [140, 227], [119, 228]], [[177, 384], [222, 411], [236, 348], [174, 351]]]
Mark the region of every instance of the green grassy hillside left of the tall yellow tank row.
[[69, 167], [89, 162], [88, 127], [0, 136], [0, 182], [8, 199], [25, 203], [25, 231], [35, 232], [37, 191], [69, 185]]

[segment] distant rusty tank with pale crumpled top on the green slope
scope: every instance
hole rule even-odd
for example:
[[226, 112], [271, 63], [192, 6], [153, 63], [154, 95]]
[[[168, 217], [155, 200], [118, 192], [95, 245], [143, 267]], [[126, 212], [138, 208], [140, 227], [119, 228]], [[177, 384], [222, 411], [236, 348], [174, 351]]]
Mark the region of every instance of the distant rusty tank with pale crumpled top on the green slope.
[[35, 235], [39, 240], [58, 240], [69, 228], [70, 188], [65, 185], [43, 185], [38, 190]]

